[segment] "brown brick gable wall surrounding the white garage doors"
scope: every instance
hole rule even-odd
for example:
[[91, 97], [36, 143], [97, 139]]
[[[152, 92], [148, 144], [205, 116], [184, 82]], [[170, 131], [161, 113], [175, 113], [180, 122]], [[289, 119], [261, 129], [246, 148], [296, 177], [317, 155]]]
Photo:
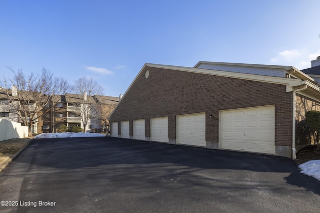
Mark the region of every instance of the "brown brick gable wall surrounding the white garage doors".
[[[274, 105], [275, 145], [291, 146], [291, 94], [285, 85], [145, 67], [110, 119], [168, 116], [168, 137], [174, 139], [176, 115], [205, 112], [206, 141], [217, 142], [219, 110]], [[145, 136], [150, 137], [149, 122]]]

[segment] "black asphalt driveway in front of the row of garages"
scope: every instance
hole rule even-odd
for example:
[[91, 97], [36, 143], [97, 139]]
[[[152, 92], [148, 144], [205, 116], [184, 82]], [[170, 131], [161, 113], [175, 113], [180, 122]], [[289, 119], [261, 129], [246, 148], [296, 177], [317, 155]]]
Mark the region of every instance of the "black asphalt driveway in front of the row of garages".
[[[287, 158], [118, 139], [37, 139], [0, 174], [0, 212], [319, 212]], [[4, 206], [2, 205], [4, 204]]]

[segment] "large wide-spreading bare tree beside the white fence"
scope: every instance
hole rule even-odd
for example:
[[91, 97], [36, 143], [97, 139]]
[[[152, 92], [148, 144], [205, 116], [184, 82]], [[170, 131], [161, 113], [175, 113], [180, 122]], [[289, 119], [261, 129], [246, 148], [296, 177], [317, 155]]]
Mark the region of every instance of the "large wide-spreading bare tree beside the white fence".
[[[49, 105], [55, 105], [59, 96], [69, 90], [69, 85], [62, 78], [53, 77], [53, 74], [42, 68], [41, 73], [30, 73], [25, 76], [19, 69], [13, 72], [12, 79], [4, 78], [5, 95], [8, 105], [7, 111], [17, 115], [20, 122], [28, 126], [29, 135], [31, 126], [42, 115], [51, 110]], [[9, 89], [11, 87], [11, 89]], [[39, 113], [42, 111], [42, 113]]]

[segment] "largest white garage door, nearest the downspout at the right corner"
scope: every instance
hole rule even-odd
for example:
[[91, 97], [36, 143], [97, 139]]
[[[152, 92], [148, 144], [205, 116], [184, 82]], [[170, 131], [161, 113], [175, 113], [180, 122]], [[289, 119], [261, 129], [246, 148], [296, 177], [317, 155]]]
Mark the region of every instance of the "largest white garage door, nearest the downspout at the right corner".
[[274, 106], [220, 112], [222, 149], [274, 154]]

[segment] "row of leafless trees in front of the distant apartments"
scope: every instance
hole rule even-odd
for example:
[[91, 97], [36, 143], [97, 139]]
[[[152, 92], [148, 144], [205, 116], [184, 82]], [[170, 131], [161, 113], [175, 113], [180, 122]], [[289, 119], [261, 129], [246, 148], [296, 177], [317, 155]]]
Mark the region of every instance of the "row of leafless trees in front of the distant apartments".
[[[52, 72], [42, 68], [40, 73], [31, 72], [25, 75], [22, 69], [14, 71], [8, 68], [13, 77], [6, 79], [3, 76], [0, 86], [5, 93], [7, 102], [5, 110], [16, 114], [24, 126], [28, 127], [31, 134], [31, 125], [42, 115], [48, 113], [51, 108], [61, 101], [61, 95], [73, 93], [77, 96], [74, 104], [79, 107], [81, 123], [85, 128], [92, 118], [90, 111], [95, 111], [95, 119], [105, 119], [101, 106], [92, 99], [92, 96], [101, 95], [103, 88], [91, 78], [80, 77], [70, 85], [61, 77], [54, 77]], [[39, 112], [42, 113], [39, 113]], [[101, 117], [101, 118], [99, 118]], [[106, 123], [106, 122], [105, 122]]]

